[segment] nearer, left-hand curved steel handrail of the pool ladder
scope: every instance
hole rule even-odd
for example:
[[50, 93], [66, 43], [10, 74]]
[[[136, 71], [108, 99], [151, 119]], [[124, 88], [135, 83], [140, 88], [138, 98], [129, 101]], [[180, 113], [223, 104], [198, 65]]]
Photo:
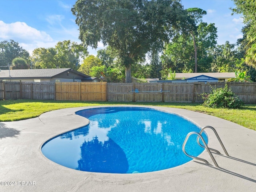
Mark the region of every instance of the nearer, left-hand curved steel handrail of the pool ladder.
[[[190, 132], [190, 133], [187, 134], [187, 136], [186, 136], [186, 138], [185, 138], [185, 140], [184, 140], [184, 143], [183, 143], [183, 145], [182, 145], [182, 150], [183, 150], [184, 154], [185, 154], [186, 156], [190, 157], [190, 158], [197, 159], [197, 160], [201, 160], [201, 161], [204, 161], [204, 162], [207, 163], [207, 164], [210, 164], [207, 160], [205, 160], [205, 159], [203, 159], [203, 158], [196, 157], [196, 156], [189, 155], [189, 154], [186, 152], [185, 146], [186, 146], [186, 143], [187, 143], [187, 141], [188, 141], [188, 138], [189, 138], [192, 134], [196, 134], [198, 137], [201, 138], [201, 140], [202, 140], [202, 142], [204, 143], [204, 146], [205, 146], [204, 148], [208, 151], [208, 153], [209, 153], [210, 157], [212, 158], [212, 161], [214, 162], [215, 166], [216, 166], [216, 167], [219, 167], [218, 164], [217, 164], [217, 162], [216, 162], [216, 160], [215, 160], [214, 157], [212, 156], [212, 152], [211, 152], [210, 149], [208, 148], [208, 146], [207, 146], [207, 144], [206, 144], [204, 138], [203, 138], [202, 135], [201, 135], [200, 133], [198, 133], [198, 132]], [[200, 146], [201, 146], [201, 145], [200, 145]]]

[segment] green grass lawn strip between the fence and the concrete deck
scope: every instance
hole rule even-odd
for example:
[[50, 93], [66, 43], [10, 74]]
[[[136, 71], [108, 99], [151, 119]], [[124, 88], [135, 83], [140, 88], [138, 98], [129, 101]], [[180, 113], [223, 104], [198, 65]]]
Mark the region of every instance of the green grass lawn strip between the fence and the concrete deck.
[[127, 102], [80, 102], [80, 101], [44, 101], [44, 100], [9, 100], [0, 101], [0, 121], [17, 121], [38, 117], [52, 110], [99, 105], [144, 105], [182, 108], [216, 116], [232, 121], [252, 130], [256, 130], [256, 105], [245, 105], [241, 109], [212, 109], [192, 103], [127, 103]]

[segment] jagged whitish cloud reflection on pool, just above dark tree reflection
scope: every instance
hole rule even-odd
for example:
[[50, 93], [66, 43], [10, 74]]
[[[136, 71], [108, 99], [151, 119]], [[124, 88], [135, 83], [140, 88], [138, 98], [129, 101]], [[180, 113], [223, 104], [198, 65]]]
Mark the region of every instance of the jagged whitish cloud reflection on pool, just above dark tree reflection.
[[100, 127], [98, 121], [91, 121], [89, 124], [89, 133], [84, 137], [85, 141], [92, 141], [94, 138], [98, 138], [99, 142], [104, 143], [108, 141], [108, 132], [111, 131], [112, 128], [116, 127], [119, 124], [119, 120], [116, 120], [115, 124], [110, 125], [109, 127]]

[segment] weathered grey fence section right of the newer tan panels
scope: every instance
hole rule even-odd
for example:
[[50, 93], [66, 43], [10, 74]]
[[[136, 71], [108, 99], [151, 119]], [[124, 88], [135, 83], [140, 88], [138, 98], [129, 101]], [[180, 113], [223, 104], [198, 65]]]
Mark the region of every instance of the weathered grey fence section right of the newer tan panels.
[[[228, 82], [228, 87], [245, 103], [256, 104], [256, 83]], [[202, 94], [223, 88], [225, 82], [108, 83], [108, 101], [202, 103]]]

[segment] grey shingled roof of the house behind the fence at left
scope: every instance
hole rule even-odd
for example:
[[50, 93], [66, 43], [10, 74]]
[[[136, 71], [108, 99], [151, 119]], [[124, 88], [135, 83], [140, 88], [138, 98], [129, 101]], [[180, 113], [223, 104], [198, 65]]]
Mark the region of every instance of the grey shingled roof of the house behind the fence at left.
[[55, 69], [16, 69], [16, 70], [1, 70], [0, 78], [54, 78], [54, 76], [73, 72], [83, 77], [89, 77], [86, 74], [72, 70], [71, 68], [55, 68]]

